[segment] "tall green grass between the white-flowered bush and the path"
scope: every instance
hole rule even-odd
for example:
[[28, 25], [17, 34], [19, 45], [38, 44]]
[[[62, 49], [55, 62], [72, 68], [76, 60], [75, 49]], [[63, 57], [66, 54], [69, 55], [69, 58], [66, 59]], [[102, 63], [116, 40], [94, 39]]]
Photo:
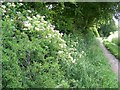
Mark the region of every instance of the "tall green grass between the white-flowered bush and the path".
[[108, 60], [99, 47], [95, 37], [88, 33], [65, 35], [69, 47], [73, 42], [78, 42], [74, 59], [76, 60], [69, 68], [68, 79], [72, 80], [73, 87], [91, 88], [116, 88], [116, 75], [112, 72]]

